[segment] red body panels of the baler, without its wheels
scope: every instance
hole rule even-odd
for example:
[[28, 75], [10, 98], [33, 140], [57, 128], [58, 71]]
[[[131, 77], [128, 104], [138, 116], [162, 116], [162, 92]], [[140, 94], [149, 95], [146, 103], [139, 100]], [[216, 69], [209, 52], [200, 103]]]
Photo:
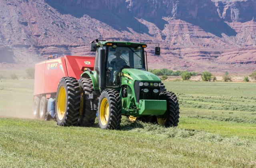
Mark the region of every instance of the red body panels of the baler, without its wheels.
[[[34, 96], [47, 99], [56, 95], [62, 77], [80, 78], [84, 68], [93, 69], [95, 57], [70, 56], [50, 59], [36, 64]], [[55, 97], [52, 97], [55, 98]]]

